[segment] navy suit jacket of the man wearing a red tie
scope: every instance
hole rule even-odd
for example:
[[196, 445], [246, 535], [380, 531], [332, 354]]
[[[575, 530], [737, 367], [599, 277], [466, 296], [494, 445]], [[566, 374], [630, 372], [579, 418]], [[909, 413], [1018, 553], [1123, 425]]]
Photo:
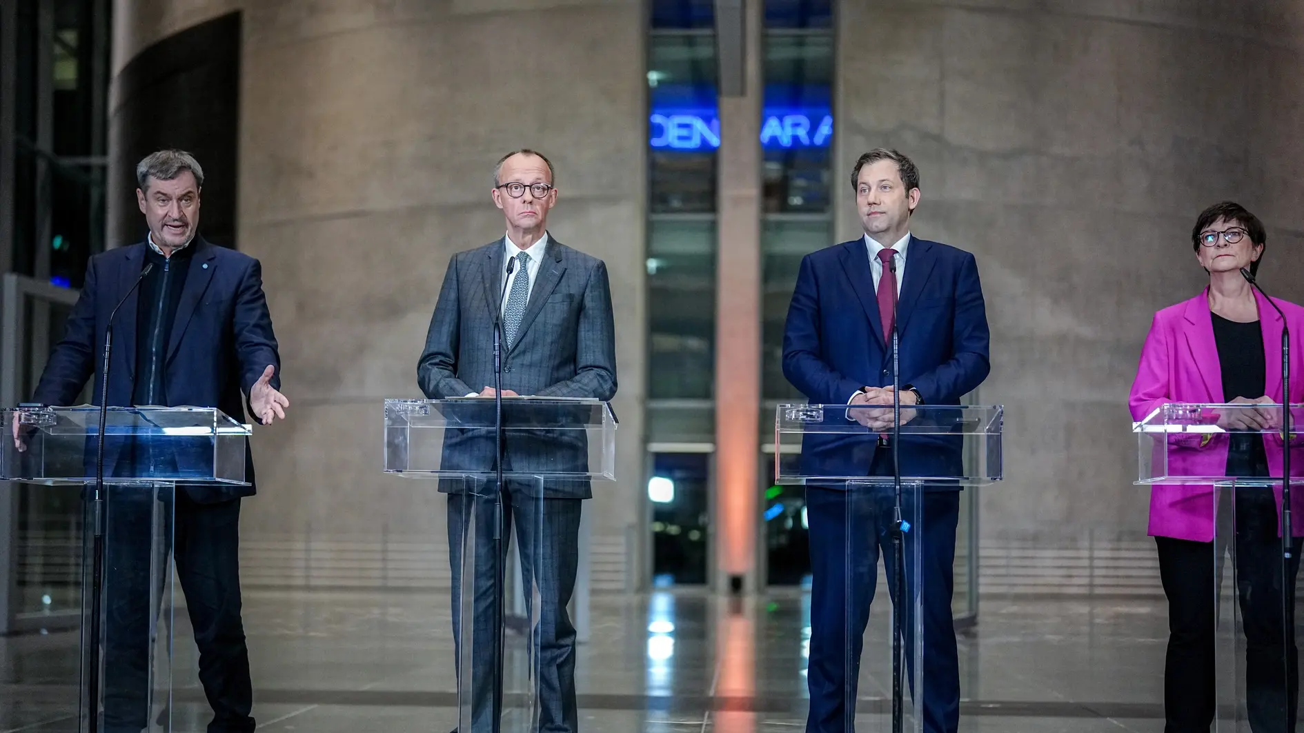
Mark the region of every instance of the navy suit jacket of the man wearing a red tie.
[[[900, 292], [901, 385], [919, 390], [926, 404], [960, 404], [991, 370], [987, 310], [974, 256], [911, 237]], [[811, 403], [845, 404], [862, 386], [891, 386], [891, 338], [884, 339], [863, 239], [802, 260], [784, 329], [784, 376]], [[837, 412], [827, 420], [845, 424], [846, 415]], [[879, 473], [885, 467], [875, 462], [887, 451], [876, 450], [876, 443], [868, 433], [808, 434], [802, 470], [831, 476]], [[956, 476], [961, 455], [960, 436], [902, 434], [904, 475]]]

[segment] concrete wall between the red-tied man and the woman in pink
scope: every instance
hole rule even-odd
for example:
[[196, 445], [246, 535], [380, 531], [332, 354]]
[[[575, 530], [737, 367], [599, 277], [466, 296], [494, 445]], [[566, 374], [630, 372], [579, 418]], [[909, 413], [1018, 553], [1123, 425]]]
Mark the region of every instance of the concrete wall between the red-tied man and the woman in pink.
[[884, 145], [922, 171], [914, 233], [978, 257], [992, 329], [981, 399], [1008, 411], [985, 540], [1144, 535], [1127, 394], [1151, 314], [1206, 282], [1189, 240], [1200, 210], [1256, 211], [1265, 287], [1304, 297], [1304, 5], [840, 9], [840, 233], [858, 233], [852, 164]]

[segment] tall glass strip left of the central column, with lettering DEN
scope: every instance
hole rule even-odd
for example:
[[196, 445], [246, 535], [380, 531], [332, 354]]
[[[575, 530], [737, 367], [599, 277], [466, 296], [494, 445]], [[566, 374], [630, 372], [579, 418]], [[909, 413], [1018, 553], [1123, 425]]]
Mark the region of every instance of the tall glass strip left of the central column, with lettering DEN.
[[648, 519], [657, 586], [709, 574], [719, 59], [712, 0], [656, 0], [648, 46]]

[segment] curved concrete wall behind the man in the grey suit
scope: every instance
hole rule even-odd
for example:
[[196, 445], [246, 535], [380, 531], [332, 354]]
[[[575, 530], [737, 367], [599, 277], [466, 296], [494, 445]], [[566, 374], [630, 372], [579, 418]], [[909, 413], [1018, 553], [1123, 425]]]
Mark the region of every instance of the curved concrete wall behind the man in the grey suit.
[[535, 147], [557, 167], [552, 232], [610, 271], [621, 481], [588, 506], [595, 582], [623, 586], [643, 506], [640, 3], [119, 0], [115, 69], [232, 9], [245, 33], [239, 240], [263, 265], [292, 403], [287, 423], [256, 430], [246, 582], [446, 578], [442, 498], [381, 475], [381, 400], [420, 396], [449, 257], [502, 236], [493, 164]]

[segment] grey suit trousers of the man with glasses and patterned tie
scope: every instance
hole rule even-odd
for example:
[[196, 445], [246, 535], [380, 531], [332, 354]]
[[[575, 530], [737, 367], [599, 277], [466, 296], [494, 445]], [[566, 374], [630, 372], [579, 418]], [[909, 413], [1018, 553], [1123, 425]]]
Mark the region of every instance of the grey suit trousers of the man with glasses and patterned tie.
[[[575, 590], [579, 567], [582, 500], [526, 496], [514, 490], [511, 484], [506, 490], [490, 489], [488, 493], [449, 494], [452, 633], [459, 687], [463, 690], [460, 704], [463, 715], [467, 707], [471, 715], [471, 730], [460, 733], [492, 732], [494, 710], [502, 704], [501, 698], [496, 699], [494, 690], [498, 663], [493, 653], [493, 638], [502, 630], [494, 591], [503, 588], [502, 569], [506, 566], [512, 522], [516, 524], [528, 617], [529, 678], [537, 681], [533, 693], [537, 694], [539, 717], [531, 730], [576, 733], [575, 627], [566, 605]], [[498, 514], [494, 503], [498, 498], [502, 501], [501, 543], [493, 539]], [[497, 558], [496, 548], [501, 553]], [[469, 593], [466, 608], [463, 593]], [[472, 625], [469, 638], [463, 634], [466, 623]]]

